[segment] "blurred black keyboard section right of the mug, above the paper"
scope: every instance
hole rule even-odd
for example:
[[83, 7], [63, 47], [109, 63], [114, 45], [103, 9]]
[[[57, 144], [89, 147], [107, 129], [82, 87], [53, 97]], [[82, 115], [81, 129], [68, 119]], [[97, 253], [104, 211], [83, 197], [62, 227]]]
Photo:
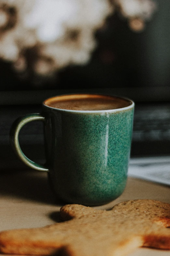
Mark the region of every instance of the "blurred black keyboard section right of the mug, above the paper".
[[132, 157], [170, 155], [170, 103], [136, 104]]

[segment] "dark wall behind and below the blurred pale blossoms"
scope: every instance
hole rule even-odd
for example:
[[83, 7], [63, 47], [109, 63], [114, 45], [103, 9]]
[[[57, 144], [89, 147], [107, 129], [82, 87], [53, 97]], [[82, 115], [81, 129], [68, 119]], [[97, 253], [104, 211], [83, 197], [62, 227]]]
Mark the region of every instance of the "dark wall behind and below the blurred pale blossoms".
[[157, 0], [158, 9], [141, 33], [117, 14], [96, 32], [97, 49], [85, 66], [70, 66], [51, 81], [36, 84], [34, 74], [20, 80], [11, 63], [0, 62], [1, 90], [114, 88], [170, 85], [170, 2]]

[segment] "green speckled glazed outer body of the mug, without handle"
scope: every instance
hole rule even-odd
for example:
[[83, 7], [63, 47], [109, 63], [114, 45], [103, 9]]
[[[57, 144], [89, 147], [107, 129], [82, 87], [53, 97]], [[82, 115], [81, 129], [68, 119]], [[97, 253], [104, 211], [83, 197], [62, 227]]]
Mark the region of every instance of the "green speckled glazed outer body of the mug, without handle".
[[134, 106], [118, 111], [43, 107], [49, 179], [68, 203], [101, 205], [120, 196], [127, 180]]

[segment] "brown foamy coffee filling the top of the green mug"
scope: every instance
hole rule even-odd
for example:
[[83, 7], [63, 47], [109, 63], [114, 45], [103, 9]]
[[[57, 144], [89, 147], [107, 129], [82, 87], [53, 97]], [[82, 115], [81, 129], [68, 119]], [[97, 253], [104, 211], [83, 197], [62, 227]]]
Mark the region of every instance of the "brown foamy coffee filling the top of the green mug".
[[73, 94], [50, 98], [44, 102], [46, 106], [79, 111], [113, 110], [130, 106], [131, 101], [115, 96], [97, 94]]

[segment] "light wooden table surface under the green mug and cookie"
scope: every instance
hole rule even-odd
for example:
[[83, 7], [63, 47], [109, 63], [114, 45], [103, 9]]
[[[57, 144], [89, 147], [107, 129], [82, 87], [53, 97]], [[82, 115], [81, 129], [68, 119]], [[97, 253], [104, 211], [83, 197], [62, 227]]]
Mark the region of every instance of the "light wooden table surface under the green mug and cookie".
[[[155, 199], [170, 203], [170, 187], [129, 178], [119, 198], [94, 208], [108, 210], [129, 199]], [[0, 173], [0, 231], [58, 222], [62, 205], [61, 201], [55, 202], [46, 173], [34, 170]], [[170, 256], [170, 251], [139, 248], [129, 256]]]

